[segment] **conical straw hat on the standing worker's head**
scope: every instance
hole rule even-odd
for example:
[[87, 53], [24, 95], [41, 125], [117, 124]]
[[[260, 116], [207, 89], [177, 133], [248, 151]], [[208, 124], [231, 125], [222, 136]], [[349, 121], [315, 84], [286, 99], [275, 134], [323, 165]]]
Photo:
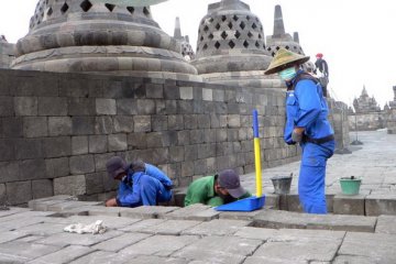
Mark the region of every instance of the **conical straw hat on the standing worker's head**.
[[271, 62], [267, 70], [264, 72], [266, 75], [278, 73], [285, 68], [292, 67], [296, 64], [304, 64], [309, 61], [309, 56], [302, 56], [297, 53], [290, 52], [284, 47], [275, 54], [275, 57]]

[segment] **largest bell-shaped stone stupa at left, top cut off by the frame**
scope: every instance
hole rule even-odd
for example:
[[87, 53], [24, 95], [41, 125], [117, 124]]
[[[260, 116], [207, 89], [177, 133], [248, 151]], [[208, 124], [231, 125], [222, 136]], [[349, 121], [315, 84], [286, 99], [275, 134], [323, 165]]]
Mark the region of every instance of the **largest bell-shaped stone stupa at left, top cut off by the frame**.
[[12, 68], [200, 80], [150, 7], [40, 0]]

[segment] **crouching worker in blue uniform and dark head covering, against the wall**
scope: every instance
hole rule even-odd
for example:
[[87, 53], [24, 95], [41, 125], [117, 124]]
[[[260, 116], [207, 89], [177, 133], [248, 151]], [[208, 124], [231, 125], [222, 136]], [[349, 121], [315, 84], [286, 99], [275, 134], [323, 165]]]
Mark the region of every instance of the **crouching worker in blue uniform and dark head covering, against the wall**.
[[172, 180], [151, 164], [127, 164], [122, 157], [113, 156], [106, 167], [111, 178], [120, 180], [118, 196], [108, 200], [107, 207], [156, 206], [172, 198]]

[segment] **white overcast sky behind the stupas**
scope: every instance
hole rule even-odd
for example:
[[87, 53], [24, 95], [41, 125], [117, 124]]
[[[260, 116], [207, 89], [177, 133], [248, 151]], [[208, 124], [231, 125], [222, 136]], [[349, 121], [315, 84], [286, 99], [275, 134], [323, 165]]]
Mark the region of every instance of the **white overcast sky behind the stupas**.
[[[38, 0], [2, 1], [0, 33], [15, 43], [29, 30]], [[198, 25], [215, 0], [168, 0], [152, 7], [156, 22], [173, 35], [175, 18], [180, 18], [182, 34], [196, 47]], [[337, 100], [351, 105], [363, 86], [381, 108], [394, 99], [396, 86], [396, 1], [331, 0], [245, 0], [273, 34], [274, 9], [282, 6], [285, 30], [299, 33], [306, 55], [322, 53], [330, 68], [329, 89]]]

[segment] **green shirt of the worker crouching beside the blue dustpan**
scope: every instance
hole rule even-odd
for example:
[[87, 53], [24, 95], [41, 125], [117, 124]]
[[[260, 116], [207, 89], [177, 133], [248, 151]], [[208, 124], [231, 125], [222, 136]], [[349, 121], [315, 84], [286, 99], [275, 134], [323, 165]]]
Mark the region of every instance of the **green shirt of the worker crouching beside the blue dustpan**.
[[[239, 199], [251, 197], [252, 195], [246, 191]], [[223, 205], [223, 199], [215, 193], [215, 176], [206, 176], [194, 180], [187, 189], [185, 206], [194, 204], [204, 204], [211, 207]]]

